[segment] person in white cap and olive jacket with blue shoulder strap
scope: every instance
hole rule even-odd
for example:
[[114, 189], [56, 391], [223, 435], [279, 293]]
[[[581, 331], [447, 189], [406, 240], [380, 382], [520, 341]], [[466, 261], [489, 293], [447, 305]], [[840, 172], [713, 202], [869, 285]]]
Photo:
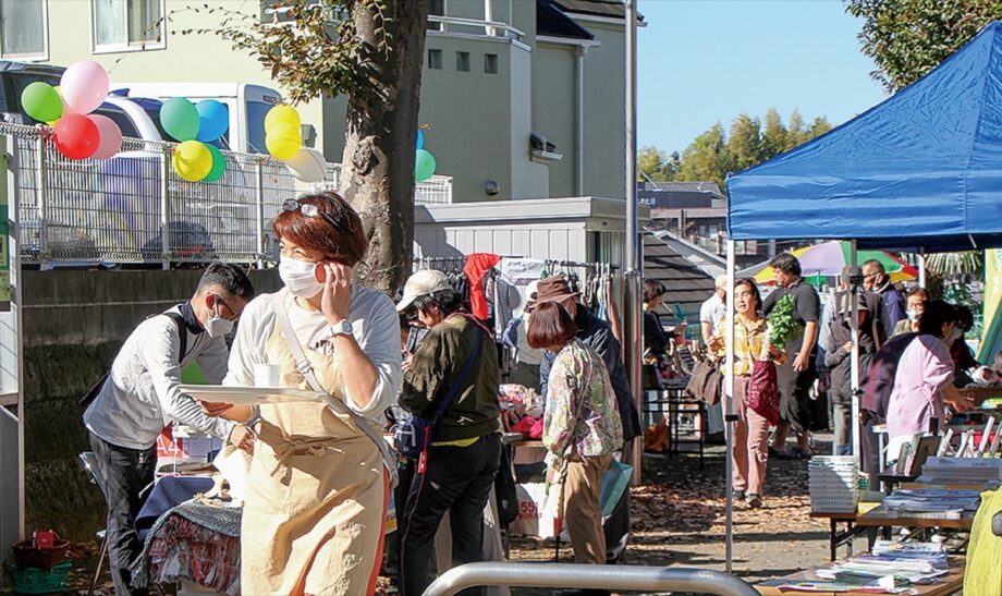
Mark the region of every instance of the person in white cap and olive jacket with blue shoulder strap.
[[452, 563], [484, 560], [484, 508], [501, 459], [501, 372], [490, 331], [461, 301], [445, 273], [425, 269], [411, 276], [396, 305], [429, 329], [404, 374], [400, 405], [431, 419], [454, 390], [399, 516], [403, 596], [419, 596], [435, 580], [435, 534], [447, 512]]

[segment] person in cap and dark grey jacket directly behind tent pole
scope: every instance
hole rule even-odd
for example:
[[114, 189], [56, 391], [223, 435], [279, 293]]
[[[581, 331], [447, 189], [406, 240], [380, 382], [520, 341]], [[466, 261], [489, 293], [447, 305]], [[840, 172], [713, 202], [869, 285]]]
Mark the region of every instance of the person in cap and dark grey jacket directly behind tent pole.
[[[873, 294], [876, 296], [876, 294]], [[879, 296], [876, 296], [879, 299]], [[831, 374], [831, 396], [834, 417], [832, 452], [835, 455], [852, 453], [853, 417], [853, 317], [850, 294], [841, 295], [838, 316], [828, 325], [828, 343], [824, 345], [824, 366]], [[869, 370], [877, 353], [878, 338], [873, 337], [870, 308], [863, 297], [857, 299], [859, 312], [859, 370], [860, 377]]]

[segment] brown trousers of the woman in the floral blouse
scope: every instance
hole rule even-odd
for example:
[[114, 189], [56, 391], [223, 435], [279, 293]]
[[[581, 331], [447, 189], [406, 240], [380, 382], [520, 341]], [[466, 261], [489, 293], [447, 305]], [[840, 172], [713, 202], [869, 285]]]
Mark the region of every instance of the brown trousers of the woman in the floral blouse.
[[[612, 453], [566, 462], [567, 484], [564, 487], [563, 511], [571, 545], [574, 546], [575, 563], [606, 563], [606, 535], [602, 532], [602, 511], [598, 499], [602, 490], [602, 476], [609, 470], [610, 461]], [[560, 490], [559, 487], [554, 488]]]

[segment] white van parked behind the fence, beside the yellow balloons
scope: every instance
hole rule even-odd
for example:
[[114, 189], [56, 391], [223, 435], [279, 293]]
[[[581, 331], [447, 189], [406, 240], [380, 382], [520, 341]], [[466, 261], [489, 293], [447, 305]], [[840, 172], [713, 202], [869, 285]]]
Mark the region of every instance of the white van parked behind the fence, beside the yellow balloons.
[[265, 114], [282, 101], [270, 87], [246, 83], [115, 83], [113, 94], [148, 97], [164, 101], [185, 97], [193, 102], [215, 99], [230, 110], [230, 129], [222, 137], [223, 148], [248, 154], [266, 154]]

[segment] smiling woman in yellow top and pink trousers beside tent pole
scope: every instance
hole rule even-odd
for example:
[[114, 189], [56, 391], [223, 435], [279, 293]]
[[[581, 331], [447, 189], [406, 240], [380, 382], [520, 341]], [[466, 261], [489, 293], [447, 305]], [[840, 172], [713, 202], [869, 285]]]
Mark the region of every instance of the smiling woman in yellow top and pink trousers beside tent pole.
[[[756, 362], [786, 362], [786, 354], [769, 345], [769, 330], [761, 314], [762, 299], [755, 281], [744, 278], [734, 284], [734, 398], [737, 416], [734, 424], [733, 487], [734, 498], [744, 499], [748, 507], [762, 506], [762, 485], [769, 461], [769, 421], [748, 406], [748, 385]], [[726, 320], [717, 326], [726, 329]], [[725, 340], [713, 336], [710, 349], [723, 354]]]

